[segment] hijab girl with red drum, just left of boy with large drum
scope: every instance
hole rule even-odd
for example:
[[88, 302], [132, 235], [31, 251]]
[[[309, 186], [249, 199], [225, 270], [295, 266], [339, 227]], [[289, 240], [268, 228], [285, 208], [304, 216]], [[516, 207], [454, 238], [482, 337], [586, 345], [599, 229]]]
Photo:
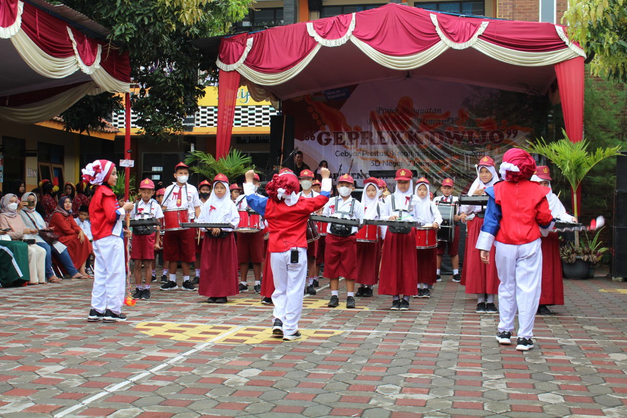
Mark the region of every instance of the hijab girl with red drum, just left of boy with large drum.
[[[442, 223], [442, 215], [435, 202], [429, 197], [429, 180], [421, 177], [416, 183], [416, 205], [422, 206], [424, 222], [431, 223], [437, 230]], [[431, 297], [429, 286], [436, 282], [436, 247], [429, 249], [416, 249], [418, 263], [418, 297]], [[415, 296], [414, 296], [415, 297]]]

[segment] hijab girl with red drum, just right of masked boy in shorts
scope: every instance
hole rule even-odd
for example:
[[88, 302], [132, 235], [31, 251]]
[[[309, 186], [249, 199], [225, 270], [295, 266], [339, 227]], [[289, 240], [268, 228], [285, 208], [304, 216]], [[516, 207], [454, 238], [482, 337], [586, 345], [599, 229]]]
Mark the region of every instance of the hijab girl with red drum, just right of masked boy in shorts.
[[[361, 196], [361, 205], [364, 207], [364, 219], [379, 219], [383, 213], [383, 203], [379, 201], [382, 191], [379, 190], [379, 181], [374, 177], [364, 180], [364, 194]], [[385, 227], [379, 227], [382, 235]], [[381, 264], [381, 249], [377, 242], [357, 242], [357, 277], [359, 289], [355, 296], [372, 296], [372, 286], [379, 282], [379, 264]]]

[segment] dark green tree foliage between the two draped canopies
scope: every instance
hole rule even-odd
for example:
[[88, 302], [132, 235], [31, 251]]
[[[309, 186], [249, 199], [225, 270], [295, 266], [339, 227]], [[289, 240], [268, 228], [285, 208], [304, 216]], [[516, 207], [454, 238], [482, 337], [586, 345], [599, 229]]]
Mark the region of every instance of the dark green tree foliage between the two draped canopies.
[[[111, 29], [110, 41], [129, 51], [137, 124], [145, 134], [171, 139], [183, 118], [198, 111], [206, 67], [189, 41], [227, 33], [248, 13], [252, 0], [63, 0], [70, 8]], [[211, 66], [210, 66], [211, 67]], [[117, 102], [115, 104], [114, 102]], [[110, 94], [80, 101], [66, 115], [69, 129], [96, 126], [120, 104]], [[83, 112], [88, 109], [87, 112]], [[95, 111], [97, 110], [97, 111]], [[102, 112], [99, 115], [95, 113]], [[71, 115], [71, 117], [70, 117]]]

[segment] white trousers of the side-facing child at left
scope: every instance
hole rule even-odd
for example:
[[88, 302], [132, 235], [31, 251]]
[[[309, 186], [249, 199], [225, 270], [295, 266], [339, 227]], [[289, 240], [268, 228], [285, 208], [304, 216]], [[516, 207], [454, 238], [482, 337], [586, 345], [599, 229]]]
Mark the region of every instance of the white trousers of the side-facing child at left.
[[95, 240], [93, 254], [92, 308], [120, 314], [126, 286], [124, 240], [115, 235]]

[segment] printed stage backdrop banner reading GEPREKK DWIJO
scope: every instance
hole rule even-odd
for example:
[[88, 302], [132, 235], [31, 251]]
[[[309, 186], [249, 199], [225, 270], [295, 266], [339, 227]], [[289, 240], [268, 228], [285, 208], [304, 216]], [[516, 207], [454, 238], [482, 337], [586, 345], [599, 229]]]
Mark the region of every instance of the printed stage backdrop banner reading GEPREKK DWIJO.
[[[294, 144], [316, 169], [389, 178], [405, 167], [433, 184], [462, 187], [484, 154], [540, 136], [547, 99], [495, 88], [404, 78], [362, 83], [283, 101], [295, 121]], [[341, 166], [341, 168], [340, 168]], [[377, 175], [379, 174], [379, 175]], [[361, 183], [358, 182], [358, 185]]]

